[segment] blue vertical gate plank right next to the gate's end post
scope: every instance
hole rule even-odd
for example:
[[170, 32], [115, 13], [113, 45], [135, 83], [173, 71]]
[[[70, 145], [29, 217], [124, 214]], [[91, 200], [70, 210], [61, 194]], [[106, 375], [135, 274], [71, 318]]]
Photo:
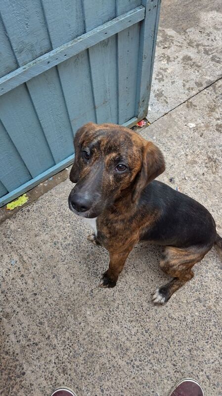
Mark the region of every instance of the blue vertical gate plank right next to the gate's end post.
[[[116, 16], [140, 5], [141, 0], [119, 0]], [[118, 63], [118, 123], [124, 124], [135, 115], [137, 66], [140, 24], [117, 34]]]

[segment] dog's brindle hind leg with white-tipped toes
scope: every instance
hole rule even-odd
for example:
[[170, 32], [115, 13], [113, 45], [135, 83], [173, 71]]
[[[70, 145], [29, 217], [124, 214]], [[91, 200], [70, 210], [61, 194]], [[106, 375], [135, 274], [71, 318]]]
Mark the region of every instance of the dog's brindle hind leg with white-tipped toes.
[[153, 295], [153, 302], [164, 304], [169, 298], [187, 281], [190, 281], [194, 273], [192, 267], [202, 260], [212, 246], [192, 246], [186, 248], [165, 247], [163, 258], [160, 261], [161, 269], [173, 279], [171, 282], [160, 287]]

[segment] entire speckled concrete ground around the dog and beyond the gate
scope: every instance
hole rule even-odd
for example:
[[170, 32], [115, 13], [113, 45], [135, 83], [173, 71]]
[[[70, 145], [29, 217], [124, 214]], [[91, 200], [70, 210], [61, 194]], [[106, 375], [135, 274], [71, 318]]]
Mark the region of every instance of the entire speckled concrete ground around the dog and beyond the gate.
[[[218, 0], [163, 1], [152, 124], [140, 132], [165, 153], [159, 179], [204, 204], [222, 235], [221, 12]], [[0, 395], [45, 396], [66, 385], [78, 396], [167, 396], [191, 376], [205, 396], [221, 396], [215, 250], [163, 307], [151, 302], [168, 281], [160, 247], [139, 244], [116, 288], [99, 289], [108, 253], [87, 242], [90, 229], [68, 209], [70, 189], [69, 180], [58, 184], [0, 226]]]

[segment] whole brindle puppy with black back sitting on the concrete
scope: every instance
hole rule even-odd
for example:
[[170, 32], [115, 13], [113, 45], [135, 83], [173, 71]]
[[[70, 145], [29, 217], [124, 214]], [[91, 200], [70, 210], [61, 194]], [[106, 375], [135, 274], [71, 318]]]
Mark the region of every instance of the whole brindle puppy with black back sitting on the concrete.
[[100, 286], [112, 288], [139, 240], [164, 246], [160, 267], [173, 277], [157, 289], [164, 304], [192, 279], [192, 266], [216, 245], [222, 252], [212, 215], [200, 203], [159, 181], [165, 170], [162, 152], [128, 128], [89, 123], [75, 136], [70, 180], [70, 209], [88, 219], [90, 241], [106, 247], [108, 270]]

